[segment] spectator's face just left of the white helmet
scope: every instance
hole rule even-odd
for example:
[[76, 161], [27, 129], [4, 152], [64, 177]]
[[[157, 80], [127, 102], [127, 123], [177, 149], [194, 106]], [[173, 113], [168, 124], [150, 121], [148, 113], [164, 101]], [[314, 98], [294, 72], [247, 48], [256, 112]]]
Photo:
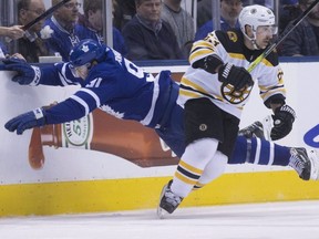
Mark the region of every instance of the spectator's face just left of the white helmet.
[[239, 0], [220, 1], [220, 15], [228, 22], [237, 21], [243, 3]]

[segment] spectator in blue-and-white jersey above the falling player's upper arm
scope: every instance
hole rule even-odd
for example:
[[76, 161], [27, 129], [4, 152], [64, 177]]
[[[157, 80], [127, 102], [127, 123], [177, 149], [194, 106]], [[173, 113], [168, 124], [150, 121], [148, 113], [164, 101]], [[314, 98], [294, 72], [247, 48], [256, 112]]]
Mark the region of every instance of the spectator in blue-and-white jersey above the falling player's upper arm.
[[[60, 1], [52, 0], [52, 6]], [[76, 0], [69, 1], [45, 20], [41, 30], [41, 38], [47, 39], [49, 50], [59, 53], [63, 61], [69, 61], [71, 49], [80, 42], [80, 35], [83, 35], [84, 28], [76, 23], [80, 7]]]

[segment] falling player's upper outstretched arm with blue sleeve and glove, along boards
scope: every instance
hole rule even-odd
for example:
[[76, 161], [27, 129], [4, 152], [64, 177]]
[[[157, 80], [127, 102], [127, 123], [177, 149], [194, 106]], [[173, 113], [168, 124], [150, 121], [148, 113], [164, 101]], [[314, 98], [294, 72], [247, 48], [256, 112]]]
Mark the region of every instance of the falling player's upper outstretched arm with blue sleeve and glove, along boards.
[[72, 72], [70, 63], [33, 65], [17, 58], [3, 59], [0, 70], [14, 71], [13, 82], [21, 85], [71, 85], [81, 83]]

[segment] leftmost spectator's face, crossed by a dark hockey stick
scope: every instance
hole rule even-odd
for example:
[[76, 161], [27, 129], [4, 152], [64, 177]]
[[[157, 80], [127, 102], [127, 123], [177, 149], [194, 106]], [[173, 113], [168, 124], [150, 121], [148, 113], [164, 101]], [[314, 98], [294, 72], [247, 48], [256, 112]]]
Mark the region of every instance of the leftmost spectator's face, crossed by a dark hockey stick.
[[[31, 0], [27, 9], [21, 9], [19, 12], [19, 21], [21, 24], [27, 24], [30, 21], [34, 20], [39, 15], [45, 12], [45, 7], [42, 0]], [[40, 32], [43, 21], [39, 21], [30, 30], [33, 32]]]

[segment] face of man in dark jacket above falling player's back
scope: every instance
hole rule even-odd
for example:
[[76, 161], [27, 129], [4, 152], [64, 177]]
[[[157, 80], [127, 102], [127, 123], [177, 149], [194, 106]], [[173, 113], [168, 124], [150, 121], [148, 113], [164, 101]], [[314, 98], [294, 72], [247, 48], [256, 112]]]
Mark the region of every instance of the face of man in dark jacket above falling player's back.
[[136, 6], [136, 12], [142, 18], [157, 22], [161, 18], [162, 0], [144, 0], [140, 6]]

